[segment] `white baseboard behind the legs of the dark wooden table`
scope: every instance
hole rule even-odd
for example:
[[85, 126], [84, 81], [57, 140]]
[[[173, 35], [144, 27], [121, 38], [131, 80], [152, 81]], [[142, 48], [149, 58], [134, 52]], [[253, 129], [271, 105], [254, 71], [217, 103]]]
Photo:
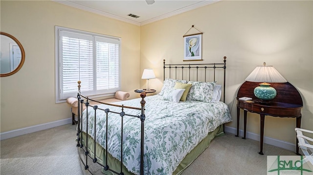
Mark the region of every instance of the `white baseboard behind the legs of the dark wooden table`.
[[[237, 134], [237, 128], [225, 126], [225, 132]], [[239, 137], [243, 137], [243, 136], [244, 136], [244, 130], [239, 129]], [[260, 141], [260, 135], [252, 133], [252, 132], [246, 132], [246, 138]], [[268, 144], [268, 145], [273, 145], [275, 147], [283, 148], [286, 150], [291, 150], [291, 151], [296, 150], [295, 144], [291, 144], [289, 142], [273, 139], [270, 137], [264, 137], [263, 142]]]

